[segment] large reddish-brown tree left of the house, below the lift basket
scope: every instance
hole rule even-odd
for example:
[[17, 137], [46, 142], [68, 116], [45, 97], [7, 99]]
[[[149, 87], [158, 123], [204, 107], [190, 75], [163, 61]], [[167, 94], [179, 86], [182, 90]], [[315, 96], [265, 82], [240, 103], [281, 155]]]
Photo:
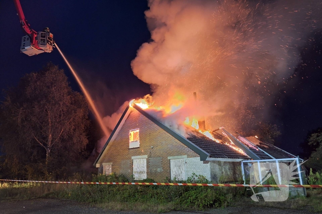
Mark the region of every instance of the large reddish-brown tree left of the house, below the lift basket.
[[5, 166], [13, 175], [59, 176], [82, 161], [89, 108], [63, 70], [47, 64], [5, 94], [0, 136]]

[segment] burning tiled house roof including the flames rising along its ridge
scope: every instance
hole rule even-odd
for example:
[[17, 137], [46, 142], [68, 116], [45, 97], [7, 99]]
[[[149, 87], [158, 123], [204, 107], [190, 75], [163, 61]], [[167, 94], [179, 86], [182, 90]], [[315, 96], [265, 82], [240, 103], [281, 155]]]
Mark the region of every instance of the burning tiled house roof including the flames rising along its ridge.
[[[252, 143], [248, 139], [239, 135], [238, 137], [233, 136], [228, 133], [223, 128], [220, 128], [215, 131], [211, 130], [201, 130], [198, 129], [198, 121], [191, 117], [186, 117], [181, 126], [184, 126], [185, 134], [178, 133], [177, 130], [174, 130], [175, 127], [173, 124], [166, 124], [162, 122], [162, 118], [157, 117], [157, 113], [162, 112], [162, 108], [155, 109], [155, 111], [148, 111], [150, 106], [144, 100], [141, 99], [140, 102], [132, 100], [128, 107], [125, 109], [123, 115], [121, 116], [118, 124], [111, 133], [108, 141], [106, 142], [104, 148], [99, 154], [99, 157], [96, 159], [96, 163], [100, 163], [102, 157], [104, 157], [104, 152], [109, 144], [113, 141], [118, 134], [118, 131], [124, 124], [129, 113], [136, 109], [142, 115], [147, 117], [153, 123], [158, 125], [161, 129], [172, 135], [178, 141], [183, 143], [185, 146], [196, 152], [200, 155], [200, 160], [229, 160], [229, 161], [241, 161], [243, 159], [277, 159], [277, 158], [295, 158], [294, 155], [281, 150], [273, 145], [260, 142], [258, 145]], [[175, 109], [173, 112], [178, 110], [180, 107]], [[154, 113], [154, 114], [151, 114]], [[162, 114], [161, 114], [162, 116]], [[221, 131], [218, 133], [216, 131]], [[258, 142], [257, 142], [258, 143]]]

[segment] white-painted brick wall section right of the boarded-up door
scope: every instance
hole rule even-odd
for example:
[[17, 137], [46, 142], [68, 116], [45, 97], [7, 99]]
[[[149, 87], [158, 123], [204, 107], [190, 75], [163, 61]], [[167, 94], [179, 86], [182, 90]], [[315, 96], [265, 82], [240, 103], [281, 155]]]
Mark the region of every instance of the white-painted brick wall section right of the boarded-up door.
[[209, 163], [204, 164], [200, 161], [200, 158], [185, 158], [185, 177], [186, 179], [195, 173], [196, 175], [204, 175], [209, 181], [211, 181], [210, 176], [210, 165]]

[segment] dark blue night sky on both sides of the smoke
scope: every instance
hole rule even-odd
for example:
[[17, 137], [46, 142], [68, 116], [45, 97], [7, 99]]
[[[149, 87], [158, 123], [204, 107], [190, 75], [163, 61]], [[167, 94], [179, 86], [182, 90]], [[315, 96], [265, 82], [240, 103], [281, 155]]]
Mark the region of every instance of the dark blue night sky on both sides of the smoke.
[[[101, 114], [110, 115], [124, 101], [150, 93], [149, 85], [138, 80], [130, 67], [137, 49], [150, 39], [144, 17], [146, 1], [21, 0], [21, 5], [34, 30], [50, 28], [99, 103]], [[24, 74], [51, 61], [65, 70], [72, 88], [80, 91], [57, 49], [30, 57], [20, 53], [24, 32], [13, 1], [0, 2], [0, 26], [1, 89], [15, 86]], [[276, 97], [277, 105], [270, 107], [270, 121], [282, 132], [276, 145], [294, 154], [300, 153], [299, 143], [308, 131], [322, 126], [322, 34], [313, 34], [315, 40], [301, 53], [297, 78], [293, 84], [290, 81], [286, 93], [281, 91]]]

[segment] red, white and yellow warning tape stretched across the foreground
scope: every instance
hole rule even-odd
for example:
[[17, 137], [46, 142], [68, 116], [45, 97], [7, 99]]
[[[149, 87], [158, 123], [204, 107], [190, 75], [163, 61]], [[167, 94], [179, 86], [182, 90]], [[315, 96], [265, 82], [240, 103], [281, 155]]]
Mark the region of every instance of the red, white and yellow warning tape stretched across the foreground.
[[278, 184], [189, 184], [189, 183], [144, 183], [144, 182], [69, 182], [69, 181], [25, 181], [25, 180], [6, 180], [0, 181], [16, 181], [16, 182], [35, 182], [35, 183], [55, 183], [55, 184], [121, 184], [121, 185], [170, 185], [170, 186], [231, 186], [231, 187], [306, 187], [306, 188], [322, 188], [322, 185], [278, 185]]

